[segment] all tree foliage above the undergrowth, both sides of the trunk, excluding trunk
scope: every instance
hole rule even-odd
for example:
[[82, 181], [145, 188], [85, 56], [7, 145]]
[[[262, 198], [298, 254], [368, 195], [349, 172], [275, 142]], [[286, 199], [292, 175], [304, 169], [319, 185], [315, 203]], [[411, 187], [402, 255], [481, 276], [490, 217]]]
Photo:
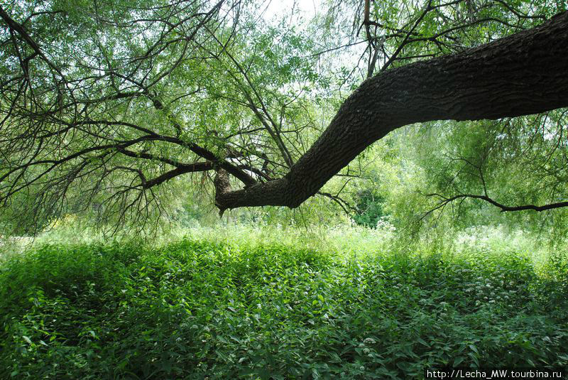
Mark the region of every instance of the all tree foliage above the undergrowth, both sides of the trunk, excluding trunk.
[[[366, 13], [364, 3], [322, 1], [313, 18], [291, 11], [270, 19], [263, 1], [4, 1], [0, 228], [33, 235], [70, 214], [113, 232], [211, 221], [219, 168], [234, 189], [282, 178], [369, 75], [459, 53], [566, 9], [552, 0], [388, 0], [368, 1]], [[432, 123], [438, 138], [422, 147], [411, 132], [394, 144], [398, 152], [369, 148], [300, 217], [268, 209], [236, 218], [328, 223], [358, 209], [358, 223], [388, 214], [401, 227], [438, 205], [415, 190], [481, 190], [457, 156], [479, 164], [502, 202], [559, 202], [564, 115]], [[361, 189], [384, 197], [381, 207]], [[460, 211], [482, 214], [476, 222], [495, 217], [472, 212], [480, 202]], [[566, 234], [565, 213], [515, 218]]]

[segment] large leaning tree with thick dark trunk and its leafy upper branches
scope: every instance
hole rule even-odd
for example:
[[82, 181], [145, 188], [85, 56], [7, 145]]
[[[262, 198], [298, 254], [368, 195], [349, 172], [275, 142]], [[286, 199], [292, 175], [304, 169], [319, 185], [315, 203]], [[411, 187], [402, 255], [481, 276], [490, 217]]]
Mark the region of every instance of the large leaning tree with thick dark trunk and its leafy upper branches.
[[[426, 1], [397, 26], [378, 22], [392, 7], [362, 4], [368, 79], [315, 141], [310, 87], [327, 80], [314, 69], [317, 45], [305, 32], [260, 25], [254, 4], [0, 9], [0, 200], [28, 192], [22, 205], [36, 219], [70, 205], [136, 219], [151, 216], [152, 203], [160, 209], [163, 183], [212, 171], [221, 213], [297, 207], [401, 126], [568, 106], [565, 11], [531, 28], [544, 16], [508, 2]], [[434, 28], [439, 20], [447, 27]], [[487, 36], [479, 25], [491, 26]]]

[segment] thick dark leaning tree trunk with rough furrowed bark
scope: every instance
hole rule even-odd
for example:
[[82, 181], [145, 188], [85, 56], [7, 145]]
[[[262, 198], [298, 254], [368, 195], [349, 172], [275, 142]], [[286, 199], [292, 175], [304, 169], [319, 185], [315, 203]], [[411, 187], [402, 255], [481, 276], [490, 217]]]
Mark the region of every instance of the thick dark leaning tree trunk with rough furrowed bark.
[[[457, 55], [386, 70], [361, 84], [283, 178], [231, 191], [219, 178], [220, 212], [297, 207], [374, 141], [408, 124], [499, 119], [568, 106], [568, 12], [537, 28]], [[219, 177], [226, 176], [223, 170]]]

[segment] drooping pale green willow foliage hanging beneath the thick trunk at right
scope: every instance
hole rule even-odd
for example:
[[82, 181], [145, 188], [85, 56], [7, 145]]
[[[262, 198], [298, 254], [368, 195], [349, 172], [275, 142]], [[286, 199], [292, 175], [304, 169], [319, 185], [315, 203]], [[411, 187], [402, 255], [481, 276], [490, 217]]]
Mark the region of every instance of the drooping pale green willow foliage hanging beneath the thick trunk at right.
[[[499, 121], [437, 121], [395, 131], [378, 143], [371, 173], [399, 229], [466, 229], [506, 224], [564, 241], [567, 210], [501, 212], [568, 199], [564, 109]], [[453, 200], [452, 200], [453, 199]], [[449, 201], [452, 200], [452, 201]]]

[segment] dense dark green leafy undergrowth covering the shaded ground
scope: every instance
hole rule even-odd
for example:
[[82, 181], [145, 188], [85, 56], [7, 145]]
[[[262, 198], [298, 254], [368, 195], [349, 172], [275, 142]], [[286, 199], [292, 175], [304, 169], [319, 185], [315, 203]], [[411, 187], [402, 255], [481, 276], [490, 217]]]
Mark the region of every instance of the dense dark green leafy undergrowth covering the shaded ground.
[[568, 266], [184, 239], [0, 263], [1, 379], [408, 379], [566, 367]]

